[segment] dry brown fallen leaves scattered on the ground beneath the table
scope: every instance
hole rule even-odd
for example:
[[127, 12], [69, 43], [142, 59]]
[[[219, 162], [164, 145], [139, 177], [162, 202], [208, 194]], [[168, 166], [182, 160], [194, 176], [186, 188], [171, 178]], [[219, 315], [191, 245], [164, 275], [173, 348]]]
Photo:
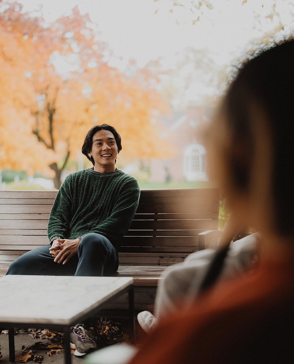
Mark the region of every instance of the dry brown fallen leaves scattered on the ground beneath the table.
[[[129, 335], [124, 333], [122, 325], [118, 323], [112, 323], [106, 318], [100, 317], [97, 320], [87, 325], [90, 333], [96, 338], [97, 348], [101, 348], [113, 343], [121, 341], [129, 342]], [[8, 334], [8, 330], [3, 330], [0, 334]], [[37, 351], [46, 351], [48, 356], [59, 354], [63, 350], [63, 333], [58, 331], [50, 331], [48, 329], [14, 329], [14, 335], [27, 334], [36, 340], [50, 340], [50, 343], [45, 344], [42, 341], [37, 341], [34, 345], [26, 347], [23, 345], [21, 348], [22, 354], [15, 357], [15, 360], [19, 363], [27, 363], [32, 360], [36, 363], [42, 363], [44, 356], [37, 355]], [[72, 350], [72, 353], [74, 350]], [[0, 358], [1, 358], [0, 351]]]

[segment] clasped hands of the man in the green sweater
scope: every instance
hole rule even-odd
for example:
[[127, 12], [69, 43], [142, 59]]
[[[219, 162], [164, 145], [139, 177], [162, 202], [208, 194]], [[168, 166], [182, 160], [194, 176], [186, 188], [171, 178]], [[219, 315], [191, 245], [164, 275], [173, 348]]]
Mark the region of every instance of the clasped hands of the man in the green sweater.
[[[49, 253], [57, 263], [66, 264], [71, 257], [78, 252], [78, 245], [81, 240], [77, 239], [55, 239], [53, 240]], [[60, 247], [60, 248], [59, 248]]]

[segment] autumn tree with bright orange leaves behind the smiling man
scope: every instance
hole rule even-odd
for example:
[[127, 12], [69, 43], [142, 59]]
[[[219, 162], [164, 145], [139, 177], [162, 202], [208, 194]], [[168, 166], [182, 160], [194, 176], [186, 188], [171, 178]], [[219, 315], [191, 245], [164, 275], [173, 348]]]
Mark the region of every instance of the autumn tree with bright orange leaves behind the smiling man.
[[0, 169], [41, 171], [59, 188], [86, 132], [102, 123], [121, 134], [125, 162], [168, 156], [158, 119], [169, 104], [151, 87], [153, 75], [130, 78], [109, 67], [95, 24], [77, 7], [50, 27], [43, 23], [0, 1]]

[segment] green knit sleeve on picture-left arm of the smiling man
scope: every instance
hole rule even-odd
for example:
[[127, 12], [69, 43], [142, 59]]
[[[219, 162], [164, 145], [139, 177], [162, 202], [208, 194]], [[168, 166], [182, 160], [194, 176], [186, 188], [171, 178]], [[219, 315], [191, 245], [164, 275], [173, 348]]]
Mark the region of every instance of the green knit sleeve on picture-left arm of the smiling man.
[[47, 229], [50, 245], [54, 239], [66, 239], [69, 235], [73, 203], [71, 186], [71, 175], [68, 175], [56, 195], [50, 212]]

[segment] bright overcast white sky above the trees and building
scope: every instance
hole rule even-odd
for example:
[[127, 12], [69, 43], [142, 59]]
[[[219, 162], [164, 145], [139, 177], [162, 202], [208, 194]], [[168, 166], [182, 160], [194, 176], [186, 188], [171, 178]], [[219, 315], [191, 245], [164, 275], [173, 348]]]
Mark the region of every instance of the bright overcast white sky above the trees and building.
[[[42, 5], [43, 16], [50, 22], [78, 5], [82, 13], [88, 12], [98, 24], [101, 39], [105, 40], [122, 60], [113, 60], [112, 66], [124, 68], [130, 58], [138, 67], [151, 59], [163, 57], [166, 67], [172, 64], [175, 52], [187, 46], [208, 48], [219, 62], [230, 62], [238, 49], [248, 41], [260, 37], [282, 21], [285, 33], [293, 29], [294, 6], [287, 0], [210, 0], [213, 9], [205, 5], [203, 14], [189, 9], [189, 0], [179, 0], [184, 7], [172, 7], [175, 0], [19, 0], [24, 10]], [[197, 3], [197, 1], [195, 1]], [[266, 18], [277, 4], [279, 16]], [[173, 8], [173, 12], [169, 10]], [[157, 11], [157, 13], [155, 13]], [[259, 16], [260, 15], [260, 16]], [[192, 21], [200, 16], [199, 21]], [[169, 64], [170, 62], [171, 64]]]

